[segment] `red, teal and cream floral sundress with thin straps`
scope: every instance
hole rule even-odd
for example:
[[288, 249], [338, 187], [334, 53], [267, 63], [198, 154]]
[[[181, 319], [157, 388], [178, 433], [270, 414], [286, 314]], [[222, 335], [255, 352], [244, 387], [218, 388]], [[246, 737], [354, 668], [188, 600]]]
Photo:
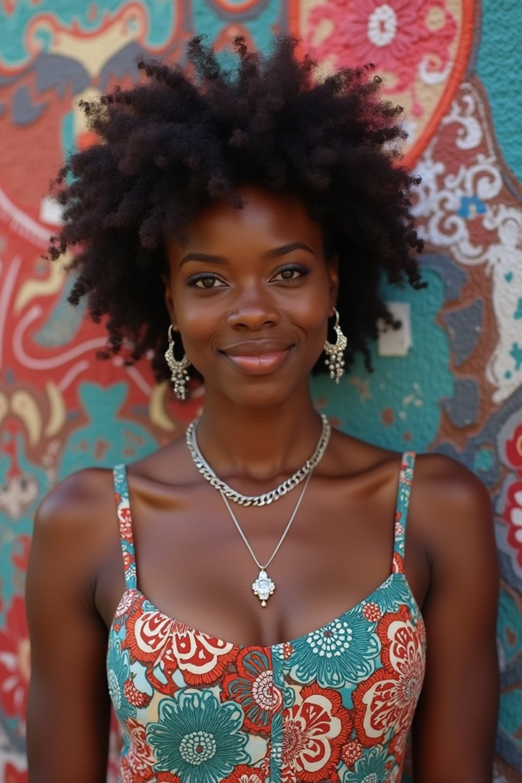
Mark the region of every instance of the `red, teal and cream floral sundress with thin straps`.
[[390, 576], [322, 628], [270, 647], [217, 639], [147, 601], [126, 467], [113, 468], [125, 592], [107, 677], [121, 783], [399, 783], [426, 656], [403, 568], [414, 463], [402, 455]]

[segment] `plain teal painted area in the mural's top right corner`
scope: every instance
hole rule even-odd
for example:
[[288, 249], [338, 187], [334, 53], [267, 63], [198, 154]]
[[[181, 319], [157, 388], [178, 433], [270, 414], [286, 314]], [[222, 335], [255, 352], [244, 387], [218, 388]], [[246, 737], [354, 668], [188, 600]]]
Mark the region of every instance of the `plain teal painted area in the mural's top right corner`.
[[522, 182], [522, 2], [484, 0], [477, 74], [488, 91], [506, 164]]

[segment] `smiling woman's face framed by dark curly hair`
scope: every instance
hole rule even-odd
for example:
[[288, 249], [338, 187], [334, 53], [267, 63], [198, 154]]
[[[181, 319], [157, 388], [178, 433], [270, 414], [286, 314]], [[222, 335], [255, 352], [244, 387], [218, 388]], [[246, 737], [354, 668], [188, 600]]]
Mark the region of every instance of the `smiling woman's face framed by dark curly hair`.
[[298, 197], [254, 186], [240, 193], [243, 209], [211, 204], [189, 224], [187, 244], [168, 243], [165, 295], [206, 393], [272, 406], [308, 384], [337, 298], [337, 269]]

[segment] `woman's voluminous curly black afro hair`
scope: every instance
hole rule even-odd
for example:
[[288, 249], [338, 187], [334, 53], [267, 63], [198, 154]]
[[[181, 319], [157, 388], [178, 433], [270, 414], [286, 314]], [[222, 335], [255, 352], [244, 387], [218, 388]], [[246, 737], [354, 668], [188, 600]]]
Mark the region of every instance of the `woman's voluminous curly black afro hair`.
[[64, 223], [48, 258], [74, 249], [69, 301], [86, 296], [88, 316], [107, 316], [102, 358], [123, 346], [126, 363], [146, 354], [157, 381], [169, 377], [165, 242], [183, 242], [211, 200], [241, 208], [247, 184], [297, 193], [322, 223], [327, 257], [339, 256], [347, 366], [359, 351], [369, 367], [377, 319], [398, 326], [378, 293], [382, 274], [423, 287], [409, 209], [417, 180], [398, 161], [401, 107], [381, 99], [371, 63], [319, 80], [299, 45], [282, 35], [261, 56], [236, 38], [227, 66], [197, 36], [186, 67], [140, 59], [148, 79], [81, 102], [99, 143], [72, 154], [54, 182]]

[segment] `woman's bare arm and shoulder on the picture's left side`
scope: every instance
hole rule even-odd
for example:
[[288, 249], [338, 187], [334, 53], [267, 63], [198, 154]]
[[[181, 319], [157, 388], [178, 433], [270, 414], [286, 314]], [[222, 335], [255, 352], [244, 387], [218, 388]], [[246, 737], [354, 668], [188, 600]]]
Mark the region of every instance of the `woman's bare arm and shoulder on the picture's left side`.
[[34, 522], [27, 572], [30, 783], [106, 780], [107, 630], [93, 605], [99, 473], [66, 478], [41, 502]]

